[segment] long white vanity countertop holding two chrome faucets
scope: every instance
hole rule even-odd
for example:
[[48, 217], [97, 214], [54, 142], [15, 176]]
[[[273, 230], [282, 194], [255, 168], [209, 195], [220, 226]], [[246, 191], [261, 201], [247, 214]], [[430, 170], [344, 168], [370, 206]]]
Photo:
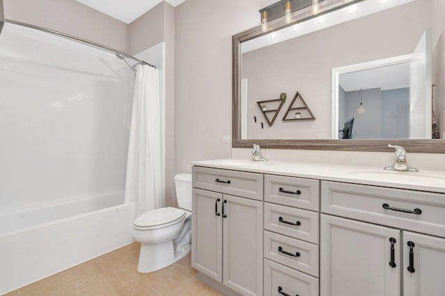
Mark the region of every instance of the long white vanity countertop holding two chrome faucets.
[[445, 172], [385, 171], [380, 167], [346, 166], [312, 162], [253, 162], [250, 159], [213, 159], [191, 162], [193, 166], [223, 168], [271, 175], [288, 175], [327, 181], [348, 182], [445, 193]]

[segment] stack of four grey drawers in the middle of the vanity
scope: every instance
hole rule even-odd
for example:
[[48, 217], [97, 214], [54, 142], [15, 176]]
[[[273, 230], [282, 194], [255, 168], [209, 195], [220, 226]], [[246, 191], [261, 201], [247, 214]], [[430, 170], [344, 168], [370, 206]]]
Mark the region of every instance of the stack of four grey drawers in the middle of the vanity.
[[264, 175], [264, 295], [319, 295], [319, 187]]

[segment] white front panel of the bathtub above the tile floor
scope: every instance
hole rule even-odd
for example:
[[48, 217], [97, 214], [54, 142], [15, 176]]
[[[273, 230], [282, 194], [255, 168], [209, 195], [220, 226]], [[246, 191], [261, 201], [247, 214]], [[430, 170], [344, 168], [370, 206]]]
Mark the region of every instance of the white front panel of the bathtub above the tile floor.
[[131, 243], [135, 210], [121, 204], [0, 235], [0, 295]]

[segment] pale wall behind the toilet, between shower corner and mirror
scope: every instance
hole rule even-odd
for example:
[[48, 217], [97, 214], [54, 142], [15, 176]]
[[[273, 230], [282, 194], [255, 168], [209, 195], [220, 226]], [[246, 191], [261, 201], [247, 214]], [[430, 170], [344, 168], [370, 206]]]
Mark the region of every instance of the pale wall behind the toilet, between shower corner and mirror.
[[230, 157], [232, 35], [259, 25], [273, 0], [187, 0], [175, 16], [175, 171], [193, 160]]

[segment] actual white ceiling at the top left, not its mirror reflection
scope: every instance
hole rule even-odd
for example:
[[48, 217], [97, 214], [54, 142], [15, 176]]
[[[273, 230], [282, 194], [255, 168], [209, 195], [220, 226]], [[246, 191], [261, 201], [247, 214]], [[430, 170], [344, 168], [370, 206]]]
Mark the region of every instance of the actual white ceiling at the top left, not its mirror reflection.
[[[163, 0], [76, 0], [86, 6], [105, 13], [110, 17], [130, 24], [132, 21], [154, 8]], [[186, 0], [165, 0], [176, 7]]]

